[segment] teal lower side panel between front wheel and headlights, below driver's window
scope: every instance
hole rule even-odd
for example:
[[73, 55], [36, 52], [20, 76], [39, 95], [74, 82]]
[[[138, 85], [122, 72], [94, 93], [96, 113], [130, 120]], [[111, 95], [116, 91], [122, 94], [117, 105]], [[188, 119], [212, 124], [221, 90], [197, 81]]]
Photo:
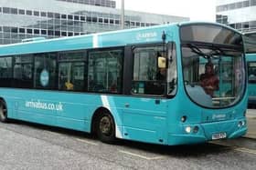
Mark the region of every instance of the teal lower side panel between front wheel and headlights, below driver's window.
[[[165, 144], [165, 99], [126, 99], [123, 109], [123, 138], [155, 144]], [[128, 106], [129, 105], [129, 106]]]

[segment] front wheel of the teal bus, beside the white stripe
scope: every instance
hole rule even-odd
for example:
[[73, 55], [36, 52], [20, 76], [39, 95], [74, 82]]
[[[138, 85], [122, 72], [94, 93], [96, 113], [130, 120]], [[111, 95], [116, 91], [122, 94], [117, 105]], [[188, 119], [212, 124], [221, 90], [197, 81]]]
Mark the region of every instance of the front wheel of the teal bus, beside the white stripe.
[[101, 142], [107, 144], [113, 144], [115, 142], [114, 120], [108, 111], [102, 110], [101, 114], [97, 115], [95, 131]]

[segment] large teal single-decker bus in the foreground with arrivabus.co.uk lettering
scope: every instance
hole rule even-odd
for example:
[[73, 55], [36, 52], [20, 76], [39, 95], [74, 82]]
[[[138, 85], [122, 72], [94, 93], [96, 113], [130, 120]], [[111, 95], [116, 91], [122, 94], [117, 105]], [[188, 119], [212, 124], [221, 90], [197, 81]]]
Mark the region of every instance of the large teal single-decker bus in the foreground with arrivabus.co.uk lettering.
[[[212, 62], [221, 82], [200, 85]], [[229, 65], [229, 66], [226, 66]], [[180, 23], [30, 39], [0, 46], [0, 120], [22, 120], [158, 145], [247, 132], [242, 35], [225, 25]], [[227, 73], [226, 73], [227, 72]]]

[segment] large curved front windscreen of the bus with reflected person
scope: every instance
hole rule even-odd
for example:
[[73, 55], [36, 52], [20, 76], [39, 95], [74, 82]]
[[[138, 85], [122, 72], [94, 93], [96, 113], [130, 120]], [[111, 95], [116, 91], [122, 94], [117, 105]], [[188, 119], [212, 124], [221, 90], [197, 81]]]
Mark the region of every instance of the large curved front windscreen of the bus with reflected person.
[[195, 46], [183, 47], [187, 94], [197, 104], [207, 107], [234, 104], [243, 93], [245, 81], [241, 52]]

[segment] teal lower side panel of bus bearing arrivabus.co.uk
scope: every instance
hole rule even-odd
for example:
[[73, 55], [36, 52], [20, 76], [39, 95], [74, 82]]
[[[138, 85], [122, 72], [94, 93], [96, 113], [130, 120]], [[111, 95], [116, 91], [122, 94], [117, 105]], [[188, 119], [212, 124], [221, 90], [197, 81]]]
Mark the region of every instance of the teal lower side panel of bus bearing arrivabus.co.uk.
[[87, 95], [24, 89], [5, 89], [1, 94], [4, 98], [7, 94], [16, 96], [6, 101], [10, 118], [80, 131], [90, 130], [88, 108], [91, 106], [85, 103], [90, 104], [87, 98], [91, 97]]

